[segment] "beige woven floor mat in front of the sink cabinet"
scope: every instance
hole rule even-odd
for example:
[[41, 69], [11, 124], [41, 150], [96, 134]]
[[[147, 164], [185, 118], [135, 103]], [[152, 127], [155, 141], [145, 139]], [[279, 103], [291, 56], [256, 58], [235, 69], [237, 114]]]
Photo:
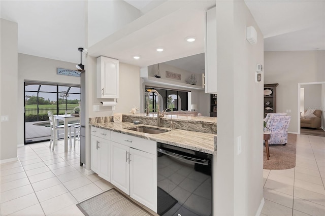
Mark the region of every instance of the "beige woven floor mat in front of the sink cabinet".
[[124, 197], [114, 188], [77, 204], [86, 216], [150, 216], [147, 211]]

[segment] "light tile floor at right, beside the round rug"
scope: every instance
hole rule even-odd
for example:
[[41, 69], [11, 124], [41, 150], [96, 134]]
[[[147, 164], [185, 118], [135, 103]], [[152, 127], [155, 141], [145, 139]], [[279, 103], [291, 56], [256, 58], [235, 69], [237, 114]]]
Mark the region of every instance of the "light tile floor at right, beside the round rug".
[[325, 137], [297, 135], [296, 167], [263, 175], [261, 215], [325, 215]]

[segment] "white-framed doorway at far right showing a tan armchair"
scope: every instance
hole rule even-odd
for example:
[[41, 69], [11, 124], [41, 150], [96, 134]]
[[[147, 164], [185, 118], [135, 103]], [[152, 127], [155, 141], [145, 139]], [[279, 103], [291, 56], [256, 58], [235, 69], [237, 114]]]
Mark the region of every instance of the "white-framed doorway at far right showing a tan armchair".
[[[306, 110], [320, 110], [320, 126], [311, 128], [305, 121]], [[325, 136], [325, 82], [298, 83], [298, 134]], [[305, 119], [305, 120], [304, 120]], [[307, 120], [306, 120], [307, 119]], [[301, 126], [304, 127], [301, 127]]]

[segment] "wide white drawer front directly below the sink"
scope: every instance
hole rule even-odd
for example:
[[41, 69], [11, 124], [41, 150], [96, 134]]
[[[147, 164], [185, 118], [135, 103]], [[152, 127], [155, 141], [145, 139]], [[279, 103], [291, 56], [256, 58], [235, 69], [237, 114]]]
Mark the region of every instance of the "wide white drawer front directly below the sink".
[[155, 141], [113, 131], [111, 132], [111, 139], [125, 146], [157, 155], [157, 145]]

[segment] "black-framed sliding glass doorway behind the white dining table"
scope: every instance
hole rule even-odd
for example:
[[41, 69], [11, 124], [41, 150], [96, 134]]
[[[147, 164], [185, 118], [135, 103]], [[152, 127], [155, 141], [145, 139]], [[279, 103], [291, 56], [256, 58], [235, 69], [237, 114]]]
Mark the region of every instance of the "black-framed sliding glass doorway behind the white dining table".
[[[47, 112], [72, 113], [79, 102], [80, 86], [24, 82], [24, 144], [49, 140]], [[63, 138], [63, 133], [59, 131], [58, 137]]]

